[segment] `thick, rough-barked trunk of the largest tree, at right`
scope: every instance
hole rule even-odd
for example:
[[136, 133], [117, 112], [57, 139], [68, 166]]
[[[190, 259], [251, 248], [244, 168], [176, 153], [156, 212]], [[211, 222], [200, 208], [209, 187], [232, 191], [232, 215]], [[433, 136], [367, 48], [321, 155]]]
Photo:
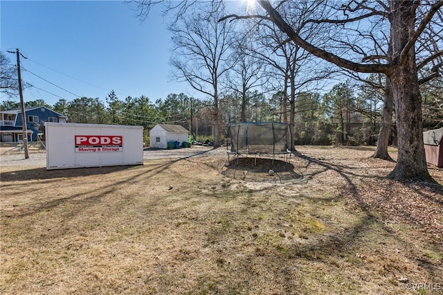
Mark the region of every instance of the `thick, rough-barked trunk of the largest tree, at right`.
[[415, 2], [391, 1], [390, 4], [395, 12], [391, 18], [392, 52], [397, 56], [389, 80], [395, 102], [398, 158], [397, 166], [388, 177], [397, 180], [432, 181], [424, 154], [422, 98], [417, 79], [415, 48], [411, 46], [408, 52], [401, 53], [410, 34], [414, 32]]

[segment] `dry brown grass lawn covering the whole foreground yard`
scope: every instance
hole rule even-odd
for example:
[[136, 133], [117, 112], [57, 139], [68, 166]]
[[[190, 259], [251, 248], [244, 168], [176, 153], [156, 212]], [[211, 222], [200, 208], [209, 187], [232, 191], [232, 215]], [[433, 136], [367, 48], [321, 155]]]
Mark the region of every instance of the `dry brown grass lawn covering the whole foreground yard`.
[[207, 154], [2, 167], [0, 293], [441, 294], [442, 186], [383, 178], [372, 147], [298, 151], [274, 177]]

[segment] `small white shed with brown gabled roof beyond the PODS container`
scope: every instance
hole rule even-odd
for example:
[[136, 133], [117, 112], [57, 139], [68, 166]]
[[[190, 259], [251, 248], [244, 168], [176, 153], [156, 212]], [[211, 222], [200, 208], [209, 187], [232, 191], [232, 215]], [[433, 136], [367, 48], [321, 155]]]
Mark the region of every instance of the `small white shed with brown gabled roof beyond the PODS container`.
[[150, 147], [168, 148], [168, 142], [188, 142], [188, 130], [181, 125], [157, 124], [150, 131]]

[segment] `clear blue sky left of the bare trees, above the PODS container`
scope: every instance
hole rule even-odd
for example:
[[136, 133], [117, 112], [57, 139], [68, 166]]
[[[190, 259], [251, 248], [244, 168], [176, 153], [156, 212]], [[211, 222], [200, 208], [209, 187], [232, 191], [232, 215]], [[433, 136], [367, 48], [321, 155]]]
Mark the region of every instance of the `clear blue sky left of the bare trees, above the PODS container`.
[[[21, 66], [32, 72], [23, 71], [23, 80], [42, 89], [26, 89], [25, 100], [105, 101], [113, 89], [120, 100], [144, 95], [155, 102], [181, 92], [199, 98], [187, 84], [171, 81], [168, 19], [159, 8], [143, 23], [125, 1], [1, 0], [0, 14], [1, 51], [19, 48], [28, 57]], [[15, 54], [5, 54], [16, 63]]]

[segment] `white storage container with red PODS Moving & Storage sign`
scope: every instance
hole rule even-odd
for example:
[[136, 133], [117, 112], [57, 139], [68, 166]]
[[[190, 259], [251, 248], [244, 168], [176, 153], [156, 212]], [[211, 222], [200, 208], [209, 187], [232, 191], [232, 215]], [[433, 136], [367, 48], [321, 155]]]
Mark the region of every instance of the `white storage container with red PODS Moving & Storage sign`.
[[46, 170], [143, 165], [143, 127], [48, 123]]

